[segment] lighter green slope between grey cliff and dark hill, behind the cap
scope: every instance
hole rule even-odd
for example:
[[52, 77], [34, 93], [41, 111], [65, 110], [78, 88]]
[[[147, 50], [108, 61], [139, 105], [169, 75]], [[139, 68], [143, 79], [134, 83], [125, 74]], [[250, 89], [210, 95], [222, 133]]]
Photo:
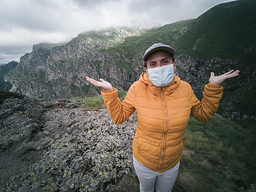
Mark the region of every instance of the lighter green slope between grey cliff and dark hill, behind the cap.
[[136, 72], [138, 72], [139, 78], [140, 73], [144, 71], [142, 55], [145, 50], [152, 44], [159, 42], [172, 45], [188, 29], [191, 22], [193, 20], [184, 20], [136, 36], [128, 36], [122, 44], [116, 44], [109, 49], [102, 50], [102, 52], [111, 54], [114, 61], [111, 60], [110, 64], [114, 62], [121, 70], [134, 73], [134, 69], [138, 68]]

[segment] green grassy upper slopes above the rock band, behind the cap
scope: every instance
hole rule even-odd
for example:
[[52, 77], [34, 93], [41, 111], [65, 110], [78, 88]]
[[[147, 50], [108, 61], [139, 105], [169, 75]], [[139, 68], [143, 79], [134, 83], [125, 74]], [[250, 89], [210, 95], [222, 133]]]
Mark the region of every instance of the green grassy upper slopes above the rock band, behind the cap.
[[[214, 6], [197, 19], [168, 24], [125, 38], [108, 52], [141, 56], [152, 44], [172, 45], [179, 54], [200, 60], [241, 59], [256, 54], [256, 1], [240, 0]], [[255, 66], [255, 65], [253, 65]]]

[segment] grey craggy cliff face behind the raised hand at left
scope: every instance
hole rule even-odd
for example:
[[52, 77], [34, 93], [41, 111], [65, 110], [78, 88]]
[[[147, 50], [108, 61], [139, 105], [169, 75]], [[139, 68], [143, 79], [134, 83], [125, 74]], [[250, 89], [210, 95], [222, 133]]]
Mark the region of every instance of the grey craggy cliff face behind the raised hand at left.
[[56, 99], [95, 94], [86, 83], [86, 76], [111, 79], [120, 90], [127, 90], [138, 73], [116, 66], [119, 54], [102, 51], [124, 42], [127, 36], [138, 35], [148, 29], [122, 28], [92, 31], [78, 35], [65, 45], [39, 44], [31, 53], [20, 58], [15, 71], [6, 81], [13, 84], [12, 92], [30, 97]]

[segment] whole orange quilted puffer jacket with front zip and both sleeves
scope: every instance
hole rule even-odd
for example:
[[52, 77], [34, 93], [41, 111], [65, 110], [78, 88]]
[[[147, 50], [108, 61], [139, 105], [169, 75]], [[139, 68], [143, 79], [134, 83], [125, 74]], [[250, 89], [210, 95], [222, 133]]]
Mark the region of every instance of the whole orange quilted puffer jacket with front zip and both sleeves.
[[138, 115], [132, 153], [154, 172], [164, 172], [180, 161], [183, 134], [190, 115], [209, 122], [219, 106], [223, 93], [221, 85], [206, 84], [202, 102], [191, 86], [175, 76], [172, 83], [157, 87], [146, 73], [132, 84], [127, 96], [120, 102], [116, 88], [102, 90], [108, 112], [115, 124], [122, 124], [134, 113]]

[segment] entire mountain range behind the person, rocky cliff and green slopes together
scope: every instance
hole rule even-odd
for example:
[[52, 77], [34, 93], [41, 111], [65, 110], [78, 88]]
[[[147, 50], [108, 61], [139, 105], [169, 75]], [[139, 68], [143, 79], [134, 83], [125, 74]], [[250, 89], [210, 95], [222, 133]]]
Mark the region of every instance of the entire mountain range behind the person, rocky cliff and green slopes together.
[[[5, 76], [12, 92], [44, 99], [86, 97], [100, 90], [86, 76], [128, 90], [143, 72], [143, 52], [162, 42], [175, 48], [178, 76], [191, 84], [198, 99], [210, 72], [239, 69], [225, 81], [218, 113], [254, 118], [256, 59], [256, 2], [232, 1], [214, 6], [197, 19], [161, 28], [119, 28], [90, 31], [64, 45], [39, 44]], [[28, 83], [29, 82], [29, 83]]]

